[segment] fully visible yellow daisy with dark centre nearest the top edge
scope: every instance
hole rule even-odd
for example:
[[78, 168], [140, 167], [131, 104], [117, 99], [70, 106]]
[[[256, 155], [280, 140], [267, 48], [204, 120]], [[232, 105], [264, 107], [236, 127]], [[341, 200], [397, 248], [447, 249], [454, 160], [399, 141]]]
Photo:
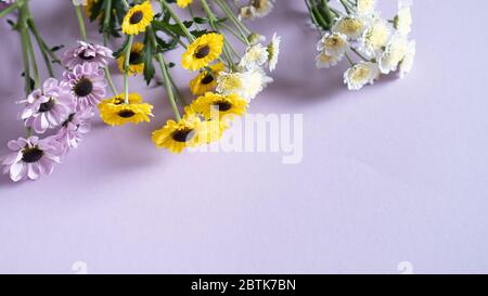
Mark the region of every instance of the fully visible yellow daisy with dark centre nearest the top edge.
[[124, 17], [121, 29], [127, 35], [138, 35], [153, 22], [154, 12], [150, 1], [134, 5]]

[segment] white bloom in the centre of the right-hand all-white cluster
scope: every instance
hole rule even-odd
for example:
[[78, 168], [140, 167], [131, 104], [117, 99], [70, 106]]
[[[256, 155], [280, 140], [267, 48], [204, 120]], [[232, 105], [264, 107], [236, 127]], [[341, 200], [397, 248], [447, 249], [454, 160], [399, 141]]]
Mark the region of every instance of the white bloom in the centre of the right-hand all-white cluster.
[[388, 24], [384, 20], [376, 18], [362, 34], [361, 50], [373, 56], [386, 46], [390, 36], [391, 29]]

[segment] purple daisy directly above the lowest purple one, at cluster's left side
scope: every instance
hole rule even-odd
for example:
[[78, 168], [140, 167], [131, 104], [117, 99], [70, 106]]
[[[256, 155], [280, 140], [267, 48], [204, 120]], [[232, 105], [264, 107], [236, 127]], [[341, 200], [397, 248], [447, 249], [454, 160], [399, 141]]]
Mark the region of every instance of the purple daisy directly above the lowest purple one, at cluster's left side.
[[76, 106], [75, 98], [54, 78], [46, 80], [41, 89], [33, 91], [18, 103], [25, 104], [21, 119], [37, 133], [60, 126]]

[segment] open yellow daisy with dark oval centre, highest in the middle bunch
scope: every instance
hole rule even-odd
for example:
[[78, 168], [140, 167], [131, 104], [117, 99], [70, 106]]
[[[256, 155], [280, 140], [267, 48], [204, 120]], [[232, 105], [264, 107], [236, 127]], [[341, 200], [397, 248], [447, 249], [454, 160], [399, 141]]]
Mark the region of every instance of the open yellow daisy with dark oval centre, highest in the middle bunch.
[[205, 34], [193, 41], [183, 53], [181, 65], [185, 69], [197, 70], [208, 66], [222, 53], [223, 36], [216, 33]]

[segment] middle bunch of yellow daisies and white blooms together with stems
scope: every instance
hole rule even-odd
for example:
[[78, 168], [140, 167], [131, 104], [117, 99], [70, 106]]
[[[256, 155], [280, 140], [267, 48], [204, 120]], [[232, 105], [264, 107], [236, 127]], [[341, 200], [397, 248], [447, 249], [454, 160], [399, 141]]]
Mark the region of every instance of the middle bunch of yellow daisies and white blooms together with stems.
[[[206, 15], [192, 13], [192, 21], [208, 24], [211, 31], [197, 26], [196, 37], [183, 29], [183, 37], [190, 44], [181, 59], [183, 68], [198, 72], [190, 81], [190, 90], [196, 99], [184, 107], [182, 117], [176, 112], [177, 120], [168, 120], [153, 132], [156, 146], [172, 153], [219, 140], [231, 120], [244, 115], [251, 100], [272, 81], [265, 67], [272, 72], [278, 63], [280, 37], [274, 35], [268, 44], [260, 43], [260, 35], [248, 30], [224, 1], [215, 2], [231, 20], [230, 26], [235, 26], [235, 31], [247, 33], [235, 34], [245, 49], [242, 55], [237, 53], [222, 33], [222, 28], [229, 28], [222, 23], [224, 18], [218, 17], [205, 0], [201, 1]], [[177, 4], [191, 11], [192, 1], [178, 1]]]

